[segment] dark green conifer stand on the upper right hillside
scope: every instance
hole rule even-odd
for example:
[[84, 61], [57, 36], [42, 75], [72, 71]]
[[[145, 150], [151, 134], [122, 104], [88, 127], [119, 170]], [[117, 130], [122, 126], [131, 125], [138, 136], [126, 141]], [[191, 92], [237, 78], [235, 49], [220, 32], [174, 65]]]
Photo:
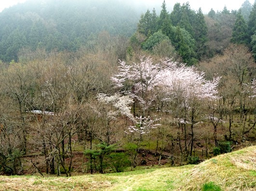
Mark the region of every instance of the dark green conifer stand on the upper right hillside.
[[152, 53], [156, 44], [164, 42], [166, 45], [169, 38], [169, 47], [175, 48], [183, 62], [193, 65], [222, 54], [230, 42], [243, 44], [254, 53], [255, 9], [246, 0], [240, 10], [229, 11], [225, 6], [221, 12], [212, 9], [203, 15], [201, 8], [191, 10], [189, 2], [176, 3], [173, 11], [168, 12], [164, 2], [160, 15], [148, 10], [141, 16], [137, 31], [146, 36], [144, 50]]

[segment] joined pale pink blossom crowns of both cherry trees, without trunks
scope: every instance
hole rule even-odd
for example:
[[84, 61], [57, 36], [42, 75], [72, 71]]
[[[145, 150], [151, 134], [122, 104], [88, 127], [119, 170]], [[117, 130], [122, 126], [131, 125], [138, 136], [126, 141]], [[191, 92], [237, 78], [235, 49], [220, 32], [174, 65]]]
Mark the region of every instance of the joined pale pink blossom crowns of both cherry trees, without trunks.
[[112, 77], [113, 83], [116, 87], [122, 87], [129, 80], [133, 84], [130, 93], [141, 96], [142, 99], [156, 86], [162, 87], [169, 95], [181, 91], [185, 97], [216, 98], [220, 78], [205, 80], [204, 73], [198, 72], [195, 67], [187, 67], [171, 60], [153, 64], [149, 57], [142, 57], [140, 63], [134, 65], [127, 65], [124, 61], [120, 61], [120, 64], [119, 73]]

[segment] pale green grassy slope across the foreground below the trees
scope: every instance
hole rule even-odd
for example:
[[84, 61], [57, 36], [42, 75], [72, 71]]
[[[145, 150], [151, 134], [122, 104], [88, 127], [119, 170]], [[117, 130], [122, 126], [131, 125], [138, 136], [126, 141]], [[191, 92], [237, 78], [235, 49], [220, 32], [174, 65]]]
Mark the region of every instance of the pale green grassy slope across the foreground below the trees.
[[202, 185], [209, 182], [222, 191], [256, 191], [256, 146], [219, 155], [196, 166], [71, 178], [0, 177], [0, 190], [200, 191]]

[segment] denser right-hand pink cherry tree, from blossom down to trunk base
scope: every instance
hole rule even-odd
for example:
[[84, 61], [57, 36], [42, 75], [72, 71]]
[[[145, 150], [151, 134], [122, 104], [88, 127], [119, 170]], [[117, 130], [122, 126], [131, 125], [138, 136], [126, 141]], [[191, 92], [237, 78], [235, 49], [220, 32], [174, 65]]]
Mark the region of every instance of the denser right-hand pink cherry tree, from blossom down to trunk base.
[[[199, 122], [198, 117], [202, 111], [204, 100], [217, 98], [217, 85], [219, 77], [213, 81], [204, 79], [204, 74], [197, 72], [195, 67], [187, 67], [183, 64], [166, 62], [167, 67], [159, 74], [159, 85], [165, 92], [165, 104], [177, 121], [178, 127], [184, 132], [185, 153], [192, 155], [194, 144], [194, 127]], [[170, 107], [171, 106], [171, 107]], [[189, 141], [187, 144], [187, 126], [190, 126]], [[178, 134], [180, 136], [180, 134]], [[183, 148], [181, 148], [182, 152]]]

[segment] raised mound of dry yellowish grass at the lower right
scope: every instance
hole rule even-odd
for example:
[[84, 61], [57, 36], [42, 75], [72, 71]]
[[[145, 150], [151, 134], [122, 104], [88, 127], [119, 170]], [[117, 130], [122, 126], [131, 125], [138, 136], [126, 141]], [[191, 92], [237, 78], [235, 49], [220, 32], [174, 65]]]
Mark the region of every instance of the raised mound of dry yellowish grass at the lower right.
[[[256, 191], [256, 146], [209, 159], [182, 176], [180, 191], [201, 191], [202, 185], [213, 182], [223, 191]], [[246, 164], [246, 165], [245, 165]]]

